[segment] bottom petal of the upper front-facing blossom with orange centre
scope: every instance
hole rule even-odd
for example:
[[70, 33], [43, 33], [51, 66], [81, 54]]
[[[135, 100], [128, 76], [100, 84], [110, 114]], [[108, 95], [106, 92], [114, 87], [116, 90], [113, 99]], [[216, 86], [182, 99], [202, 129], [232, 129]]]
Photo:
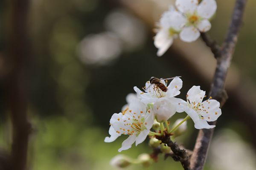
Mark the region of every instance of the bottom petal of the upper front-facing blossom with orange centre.
[[180, 40], [185, 42], [193, 42], [198, 39], [200, 32], [194, 26], [189, 26], [183, 28], [180, 32]]

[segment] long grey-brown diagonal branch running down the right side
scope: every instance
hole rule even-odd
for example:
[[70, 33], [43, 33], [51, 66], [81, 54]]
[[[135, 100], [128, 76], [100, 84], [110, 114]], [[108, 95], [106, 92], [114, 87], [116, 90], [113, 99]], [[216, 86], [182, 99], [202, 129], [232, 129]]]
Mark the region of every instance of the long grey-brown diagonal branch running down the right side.
[[[236, 0], [231, 23], [227, 31], [227, 36], [222, 45], [221, 56], [217, 58], [217, 66], [212, 82], [210, 96], [217, 99], [221, 103], [221, 106], [224, 105], [225, 100], [227, 99], [224, 91], [224, 82], [236, 46], [237, 36], [241, 26], [246, 1], [247, 0]], [[216, 122], [213, 122], [213, 124], [216, 124]], [[199, 131], [190, 161], [192, 170], [203, 169], [213, 131], [214, 129], [202, 129]]]

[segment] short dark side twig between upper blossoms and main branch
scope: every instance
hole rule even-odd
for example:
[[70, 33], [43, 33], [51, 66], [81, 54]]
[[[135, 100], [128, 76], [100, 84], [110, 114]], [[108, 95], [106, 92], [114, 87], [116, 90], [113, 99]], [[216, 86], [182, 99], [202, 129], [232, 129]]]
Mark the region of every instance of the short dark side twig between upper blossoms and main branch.
[[209, 35], [204, 32], [201, 32], [201, 38], [205, 42], [205, 44], [211, 49], [216, 59], [221, 56], [221, 48], [218, 46], [216, 41], [211, 40]]

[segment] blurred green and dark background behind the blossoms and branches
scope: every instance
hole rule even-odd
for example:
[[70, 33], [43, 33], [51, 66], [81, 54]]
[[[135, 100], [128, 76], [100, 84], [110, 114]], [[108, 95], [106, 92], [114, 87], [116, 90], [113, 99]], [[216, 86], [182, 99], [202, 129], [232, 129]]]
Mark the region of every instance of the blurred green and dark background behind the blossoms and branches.
[[[166, 4], [173, 1], [148, 2], [167, 8]], [[217, 0], [217, 14], [209, 34], [219, 44], [224, 40], [234, 2]], [[141, 3], [139, 0], [138, 4]], [[137, 9], [143, 12], [150, 3], [138, 5]], [[256, 2], [248, 0], [233, 58], [239, 74], [252, 82], [254, 90], [255, 7]], [[156, 6], [152, 11], [152, 15], [156, 13], [156, 20], [151, 22], [159, 19], [157, 10]], [[0, 50], [5, 48], [3, 37], [8, 29], [5, 25], [8, 13], [7, 0], [3, 0], [0, 2]], [[192, 85], [201, 85], [209, 92], [210, 84], [198, 77], [177, 51], [171, 49], [163, 57], [156, 56], [152, 28], [136, 13], [128, 8], [125, 0], [30, 1], [29, 120], [33, 132], [29, 140], [29, 169], [112, 170], [109, 161], [119, 154], [117, 150], [126, 136], [104, 143], [109, 119], [125, 105], [125, 96], [134, 92], [133, 87], [143, 87], [151, 76], [182, 76], [179, 97], [183, 99]], [[236, 98], [230, 96], [218, 119], [206, 170], [256, 168], [253, 161], [256, 159], [255, 129], [247, 123], [256, 119], [247, 120], [250, 117], [243, 116], [242, 112], [232, 115], [240, 107], [234, 108], [234, 101]], [[3, 98], [0, 98], [0, 111], [0, 143], [9, 149], [11, 128]], [[182, 117], [185, 114], [176, 114], [171, 123]], [[189, 121], [187, 132], [177, 141], [192, 150], [197, 133]], [[133, 158], [140, 153], [151, 153], [147, 142], [122, 152]], [[128, 169], [141, 168], [132, 165]], [[147, 169], [156, 168], [182, 169], [179, 162], [171, 158], [163, 161], [163, 157]]]

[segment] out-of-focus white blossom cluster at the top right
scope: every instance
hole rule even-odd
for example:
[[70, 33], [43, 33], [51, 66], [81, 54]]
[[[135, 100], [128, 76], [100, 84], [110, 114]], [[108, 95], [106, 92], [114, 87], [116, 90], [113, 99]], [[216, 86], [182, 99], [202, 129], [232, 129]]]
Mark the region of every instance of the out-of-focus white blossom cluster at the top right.
[[167, 51], [174, 38], [193, 42], [198, 39], [200, 32], [209, 31], [209, 20], [216, 9], [215, 0], [202, 0], [200, 4], [198, 0], [176, 0], [175, 7], [171, 6], [164, 12], [157, 24], [159, 29], [154, 38], [154, 45], [158, 48], [157, 56]]

